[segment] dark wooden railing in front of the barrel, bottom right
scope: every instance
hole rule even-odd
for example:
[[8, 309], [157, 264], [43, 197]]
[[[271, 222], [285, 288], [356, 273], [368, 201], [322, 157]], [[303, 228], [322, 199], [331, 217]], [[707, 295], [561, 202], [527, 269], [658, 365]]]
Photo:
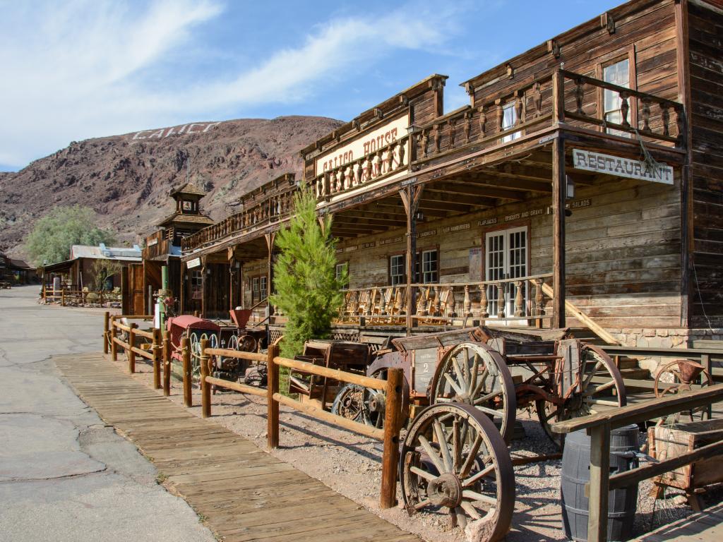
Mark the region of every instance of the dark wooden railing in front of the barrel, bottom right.
[[584, 416], [552, 424], [552, 431], [566, 434], [586, 429], [590, 442], [590, 482], [588, 507], [588, 541], [607, 541], [607, 512], [609, 491], [637, 485], [640, 481], [667, 473], [683, 465], [714, 457], [723, 453], [723, 441], [685, 452], [677, 457], [649, 463], [632, 470], [610, 476], [610, 431], [619, 427], [640, 423], [660, 416], [708, 406], [723, 400], [723, 384], [716, 384], [694, 392], [670, 395], [615, 408], [593, 416]]

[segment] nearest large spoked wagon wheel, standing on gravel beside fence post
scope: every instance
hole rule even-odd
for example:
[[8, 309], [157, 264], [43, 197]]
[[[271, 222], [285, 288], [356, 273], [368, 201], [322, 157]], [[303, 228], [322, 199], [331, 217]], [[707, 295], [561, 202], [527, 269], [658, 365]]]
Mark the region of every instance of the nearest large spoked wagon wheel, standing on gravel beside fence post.
[[515, 508], [515, 473], [505, 441], [481, 410], [438, 403], [422, 410], [409, 428], [399, 457], [404, 506], [448, 512], [453, 525], [500, 540]]

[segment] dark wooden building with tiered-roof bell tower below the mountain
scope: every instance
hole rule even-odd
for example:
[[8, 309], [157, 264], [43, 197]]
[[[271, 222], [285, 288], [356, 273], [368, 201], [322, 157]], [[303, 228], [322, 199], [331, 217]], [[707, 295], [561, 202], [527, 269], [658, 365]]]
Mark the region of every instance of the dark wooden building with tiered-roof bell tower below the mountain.
[[[174, 200], [174, 212], [161, 220], [158, 231], [145, 238], [142, 264], [128, 272], [128, 293], [124, 296], [129, 314], [152, 314], [153, 293], [161, 289], [161, 267], [168, 267], [168, 288], [179, 301], [181, 311], [201, 309], [198, 271], [181, 270], [181, 241], [213, 224], [201, 212], [205, 192], [192, 183], [184, 183], [168, 194]], [[181, 307], [181, 299], [184, 306]], [[128, 313], [127, 313], [128, 314]]]

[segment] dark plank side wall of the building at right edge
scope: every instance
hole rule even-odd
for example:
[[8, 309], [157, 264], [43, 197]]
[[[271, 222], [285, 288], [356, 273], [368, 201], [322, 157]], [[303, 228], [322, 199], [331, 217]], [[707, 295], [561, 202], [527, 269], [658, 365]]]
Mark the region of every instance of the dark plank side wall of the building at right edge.
[[[723, 11], [688, 2], [692, 129], [691, 327], [723, 325]], [[701, 304], [702, 300], [702, 304]]]

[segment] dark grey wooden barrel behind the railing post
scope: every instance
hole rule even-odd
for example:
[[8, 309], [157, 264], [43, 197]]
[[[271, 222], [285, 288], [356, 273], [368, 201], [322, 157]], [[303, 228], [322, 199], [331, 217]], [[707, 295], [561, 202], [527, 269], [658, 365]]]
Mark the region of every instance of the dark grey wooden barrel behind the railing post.
[[[610, 431], [610, 474], [630, 470], [638, 461], [630, 457], [638, 449], [638, 426], [630, 425]], [[626, 453], [628, 452], [628, 453]], [[587, 541], [588, 498], [585, 484], [590, 481], [590, 437], [575, 431], [565, 438], [562, 452], [562, 528], [576, 541]], [[607, 514], [607, 540], [625, 541], [633, 535], [633, 521], [638, 504], [638, 486], [610, 491]]]

